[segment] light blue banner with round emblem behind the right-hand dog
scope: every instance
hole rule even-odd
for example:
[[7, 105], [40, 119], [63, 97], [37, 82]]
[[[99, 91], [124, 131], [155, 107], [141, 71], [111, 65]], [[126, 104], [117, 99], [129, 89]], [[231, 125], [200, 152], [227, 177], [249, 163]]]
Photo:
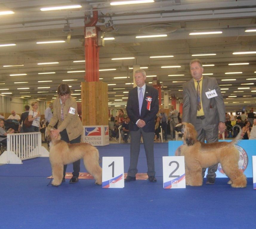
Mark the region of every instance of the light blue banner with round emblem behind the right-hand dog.
[[[232, 140], [219, 140], [220, 142], [231, 142]], [[175, 152], [180, 150], [180, 146], [183, 141], [169, 141], [168, 145], [168, 155], [175, 156]], [[235, 147], [240, 152], [238, 166], [244, 171], [246, 177], [252, 177], [252, 156], [256, 155], [256, 140], [240, 140], [238, 145]], [[186, 158], [185, 158], [186, 160]], [[207, 174], [207, 172], [205, 173]], [[226, 177], [220, 164], [218, 165], [218, 170], [216, 172], [216, 177]]]

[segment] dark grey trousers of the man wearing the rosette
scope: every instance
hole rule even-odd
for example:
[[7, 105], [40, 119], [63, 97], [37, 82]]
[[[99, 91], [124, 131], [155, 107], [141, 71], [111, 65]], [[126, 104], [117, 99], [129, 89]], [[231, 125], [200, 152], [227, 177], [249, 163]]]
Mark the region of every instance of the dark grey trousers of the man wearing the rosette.
[[144, 132], [142, 128], [138, 131], [130, 131], [130, 167], [127, 175], [135, 177], [138, 172], [137, 164], [140, 153], [141, 134], [143, 137], [144, 148], [146, 152], [148, 176], [155, 176], [155, 162], [154, 162], [154, 132]]

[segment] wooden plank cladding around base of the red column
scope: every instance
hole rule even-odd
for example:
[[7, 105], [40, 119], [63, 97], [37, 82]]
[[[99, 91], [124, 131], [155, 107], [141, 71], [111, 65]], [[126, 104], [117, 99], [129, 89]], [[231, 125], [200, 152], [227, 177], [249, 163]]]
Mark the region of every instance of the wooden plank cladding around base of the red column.
[[107, 83], [82, 82], [82, 123], [83, 126], [108, 125]]

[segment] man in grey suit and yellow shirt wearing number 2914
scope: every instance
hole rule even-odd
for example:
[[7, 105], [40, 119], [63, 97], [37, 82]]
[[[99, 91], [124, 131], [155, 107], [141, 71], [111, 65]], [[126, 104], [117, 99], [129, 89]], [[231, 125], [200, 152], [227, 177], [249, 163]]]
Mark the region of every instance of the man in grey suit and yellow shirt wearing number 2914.
[[[190, 61], [192, 79], [183, 84], [182, 121], [192, 123], [198, 133], [198, 140], [207, 143], [218, 142], [218, 131], [225, 130], [225, 106], [216, 78], [203, 76], [199, 59]], [[218, 164], [208, 168], [206, 184], [215, 183]], [[203, 168], [204, 177], [206, 168]]]

